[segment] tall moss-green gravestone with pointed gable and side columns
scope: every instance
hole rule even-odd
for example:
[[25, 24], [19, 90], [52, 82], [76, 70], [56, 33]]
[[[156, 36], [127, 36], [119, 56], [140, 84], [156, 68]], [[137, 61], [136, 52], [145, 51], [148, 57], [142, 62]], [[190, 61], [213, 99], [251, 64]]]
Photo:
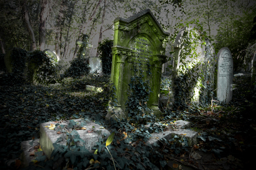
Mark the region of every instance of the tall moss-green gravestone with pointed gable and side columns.
[[[114, 87], [114, 98], [110, 103], [107, 119], [110, 117], [127, 118], [128, 97], [131, 94], [130, 82], [136, 75], [142, 76], [143, 82], [151, 88], [147, 107], [154, 114], [161, 114], [158, 108], [161, 69], [167, 62], [165, 44], [168, 32], [163, 31], [160, 24], [146, 9], [127, 19], [114, 20], [114, 45], [112, 47], [111, 82]], [[134, 69], [138, 71], [134, 71]]]

